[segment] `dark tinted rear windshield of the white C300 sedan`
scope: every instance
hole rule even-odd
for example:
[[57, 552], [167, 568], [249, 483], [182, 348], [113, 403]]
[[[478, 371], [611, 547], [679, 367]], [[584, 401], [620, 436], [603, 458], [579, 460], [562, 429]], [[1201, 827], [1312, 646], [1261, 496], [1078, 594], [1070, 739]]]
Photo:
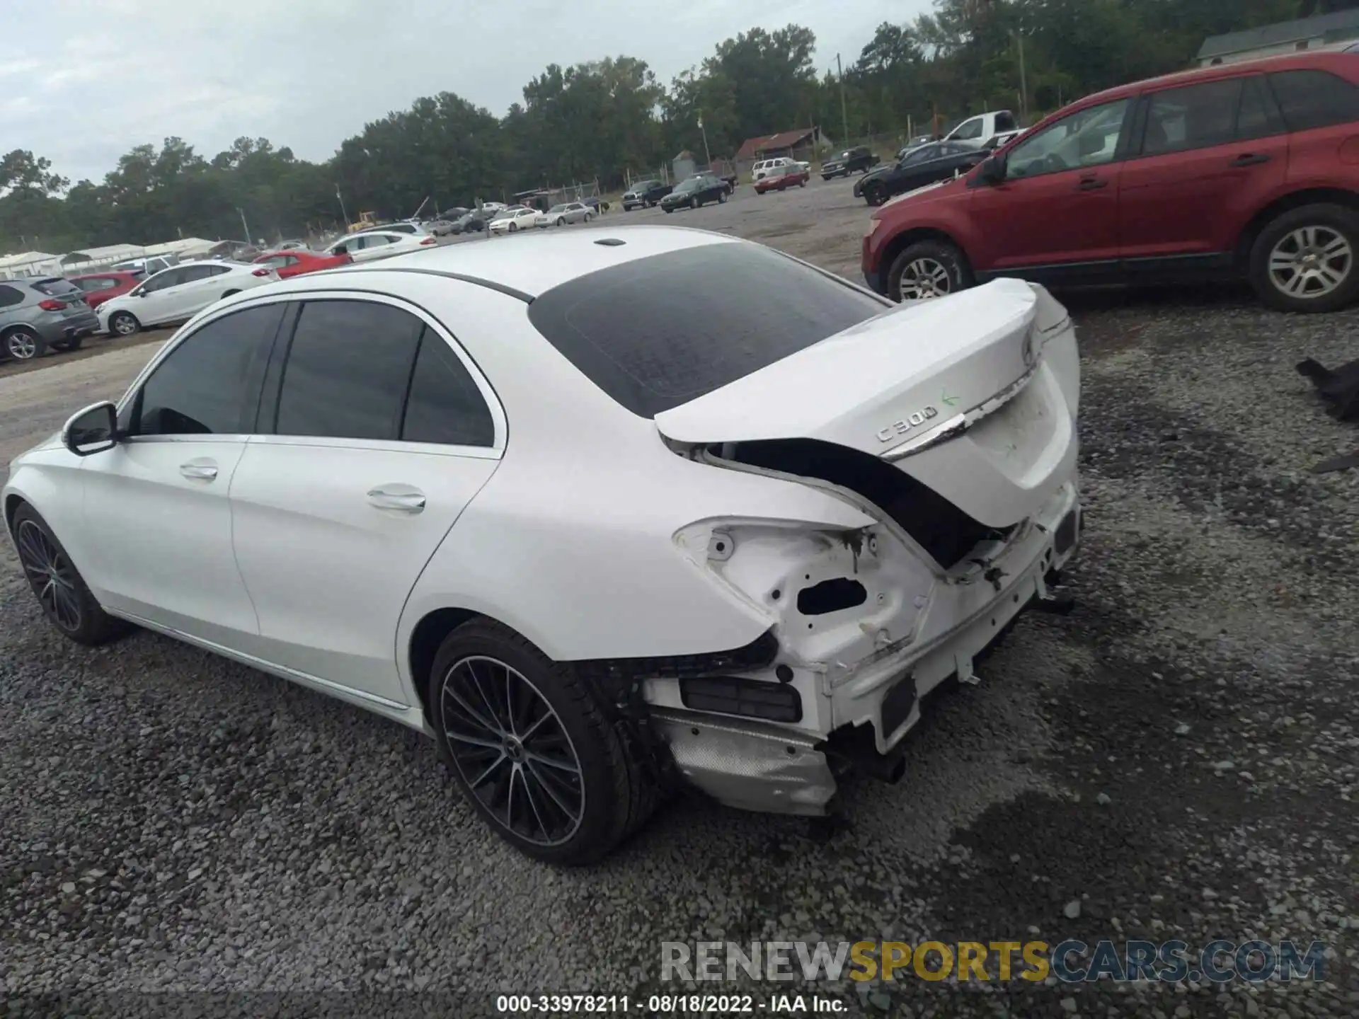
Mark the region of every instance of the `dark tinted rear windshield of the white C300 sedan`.
[[886, 310], [768, 247], [713, 243], [553, 287], [529, 321], [622, 406], [655, 417]]

